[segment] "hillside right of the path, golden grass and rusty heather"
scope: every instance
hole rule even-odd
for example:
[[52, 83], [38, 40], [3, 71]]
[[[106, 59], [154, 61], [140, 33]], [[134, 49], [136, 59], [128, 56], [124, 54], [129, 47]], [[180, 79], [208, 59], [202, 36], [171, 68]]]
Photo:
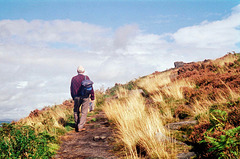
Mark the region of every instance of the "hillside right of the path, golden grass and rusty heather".
[[[239, 87], [240, 56], [227, 54], [117, 84], [108, 90], [115, 99], [103, 109], [132, 158], [175, 158], [182, 151], [194, 151], [197, 158], [236, 158]], [[166, 129], [169, 123], [186, 120], [197, 125]]]

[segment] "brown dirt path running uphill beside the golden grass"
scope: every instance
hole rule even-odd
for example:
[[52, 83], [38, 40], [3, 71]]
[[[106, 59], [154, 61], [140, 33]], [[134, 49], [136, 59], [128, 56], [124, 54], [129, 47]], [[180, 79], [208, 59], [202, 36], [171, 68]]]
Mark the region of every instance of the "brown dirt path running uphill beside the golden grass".
[[103, 112], [87, 118], [86, 130], [70, 131], [61, 137], [55, 159], [115, 159], [110, 142], [112, 130]]

